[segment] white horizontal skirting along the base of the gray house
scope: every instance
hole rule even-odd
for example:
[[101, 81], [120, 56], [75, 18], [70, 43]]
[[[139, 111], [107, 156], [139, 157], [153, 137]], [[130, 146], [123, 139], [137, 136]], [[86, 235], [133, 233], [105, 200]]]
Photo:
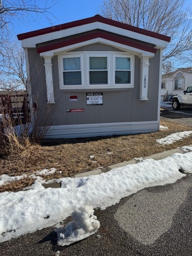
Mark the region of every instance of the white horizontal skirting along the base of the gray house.
[[159, 130], [158, 121], [50, 126], [44, 138], [85, 138], [94, 136], [150, 133]]

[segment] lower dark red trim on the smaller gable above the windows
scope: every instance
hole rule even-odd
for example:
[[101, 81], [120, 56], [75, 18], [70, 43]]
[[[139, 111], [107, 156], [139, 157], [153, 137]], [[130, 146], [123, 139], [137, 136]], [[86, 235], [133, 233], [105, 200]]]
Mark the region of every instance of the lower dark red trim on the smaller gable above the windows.
[[47, 51], [50, 51], [50, 50], [55, 50], [55, 49], [58, 49], [58, 48], [62, 48], [62, 47], [69, 46], [69, 45], [72, 45], [72, 44], [77, 44], [77, 43], [80, 43], [80, 42], [85, 42], [87, 40], [91, 40], [91, 39], [99, 38], [99, 37], [110, 40], [110, 41], [113, 41], [113, 42], [117, 42], [117, 43], [120, 43], [120, 44], [124, 44], [124, 45], [127, 45], [127, 46], [131, 46], [131, 47], [134, 47], [134, 48], [137, 48], [137, 49], [141, 49], [141, 50], [144, 50], [144, 51], [147, 51], [147, 52], [156, 53], [155, 48], [152, 48], [150, 46], [145, 46], [145, 45], [139, 44], [137, 42], [129, 41], [128, 39], [122, 38], [121, 36], [116, 36], [116, 35], [113, 35], [113, 34], [102, 32], [102, 31], [93, 32], [91, 34], [87, 34], [87, 35], [83, 35], [83, 36], [78, 36], [78, 37], [75, 37], [75, 38], [72, 38], [72, 39], [65, 40], [63, 42], [50, 44], [48, 46], [38, 47], [37, 52], [38, 53], [47, 52]]

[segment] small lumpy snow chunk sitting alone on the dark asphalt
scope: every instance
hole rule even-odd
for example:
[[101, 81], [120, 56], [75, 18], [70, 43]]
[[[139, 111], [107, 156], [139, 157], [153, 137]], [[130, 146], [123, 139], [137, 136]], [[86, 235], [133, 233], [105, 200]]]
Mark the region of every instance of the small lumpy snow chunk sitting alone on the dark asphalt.
[[69, 245], [95, 234], [100, 227], [100, 222], [93, 213], [94, 210], [90, 206], [81, 206], [72, 212], [73, 221], [69, 222], [65, 228], [55, 230], [58, 244]]

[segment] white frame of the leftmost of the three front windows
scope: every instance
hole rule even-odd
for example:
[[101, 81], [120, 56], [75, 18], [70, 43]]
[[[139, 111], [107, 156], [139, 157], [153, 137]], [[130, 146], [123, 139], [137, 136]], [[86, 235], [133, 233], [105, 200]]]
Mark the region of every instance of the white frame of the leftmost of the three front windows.
[[[64, 85], [63, 84], [63, 58], [80, 58], [80, 65], [81, 65], [81, 84], [69, 84], [69, 85]], [[59, 66], [60, 66], [60, 88], [65, 88], [65, 89], [75, 89], [75, 88], [83, 88], [84, 87], [84, 77], [83, 77], [83, 54], [70, 54], [70, 55], [61, 55], [60, 56], [60, 62], [59, 62]], [[78, 70], [79, 71], [79, 70]], [[71, 72], [75, 72], [75, 70], [71, 71]]]

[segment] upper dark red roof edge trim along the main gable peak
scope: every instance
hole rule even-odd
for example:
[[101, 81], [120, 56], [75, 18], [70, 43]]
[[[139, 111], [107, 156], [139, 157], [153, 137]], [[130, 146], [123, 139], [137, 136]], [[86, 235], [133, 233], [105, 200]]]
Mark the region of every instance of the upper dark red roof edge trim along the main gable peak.
[[81, 25], [85, 25], [85, 24], [89, 24], [89, 23], [93, 23], [93, 22], [105, 23], [105, 24], [108, 24], [108, 25], [111, 25], [111, 26], [115, 26], [117, 28], [123, 28], [123, 29], [133, 31], [133, 32], [136, 32], [136, 33], [139, 33], [139, 34], [143, 34], [145, 36], [151, 36], [151, 37], [154, 37], [154, 38], [166, 41], [166, 42], [170, 41], [169, 36], [164, 36], [164, 35], [152, 32], [152, 31], [144, 30], [143, 28], [137, 28], [137, 27], [131, 26], [129, 24], [121, 23], [121, 22], [118, 22], [118, 21], [115, 21], [115, 20], [110, 20], [110, 19], [104, 18], [100, 15], [95, 15], [95, 16], [90, 17], [90, 18], [85, 18], [85, 19], [82, 19], [82, 20], [76, 20], [76, 21], [73, 21], [73, 22], [68, 22], [68, 23], [64, 23], [64, 24], [61, 24], [61, 25], [52, 26], [52, 27], [49, 27], [49, 28], [43, 28], [43, 29], [40, 29], [40, 30], [27, 32], [27, 33], [24, 33], [24, 34], [19, 34], [19, 35], [17, 35], [17, 37], [18, 37], [18, 40], [24, 40], [24, 39], [31, 38], [31, 37], [34, 37], [34, 36], [40, 36], [40, 35], [48, 34], [48, 33], [51, 33], [51, 32], [64, 30], [64, 29], [67, 29], [67, 28], [73, 28], [73, 27], [76, 27], [76, 26], [81, 26]]

